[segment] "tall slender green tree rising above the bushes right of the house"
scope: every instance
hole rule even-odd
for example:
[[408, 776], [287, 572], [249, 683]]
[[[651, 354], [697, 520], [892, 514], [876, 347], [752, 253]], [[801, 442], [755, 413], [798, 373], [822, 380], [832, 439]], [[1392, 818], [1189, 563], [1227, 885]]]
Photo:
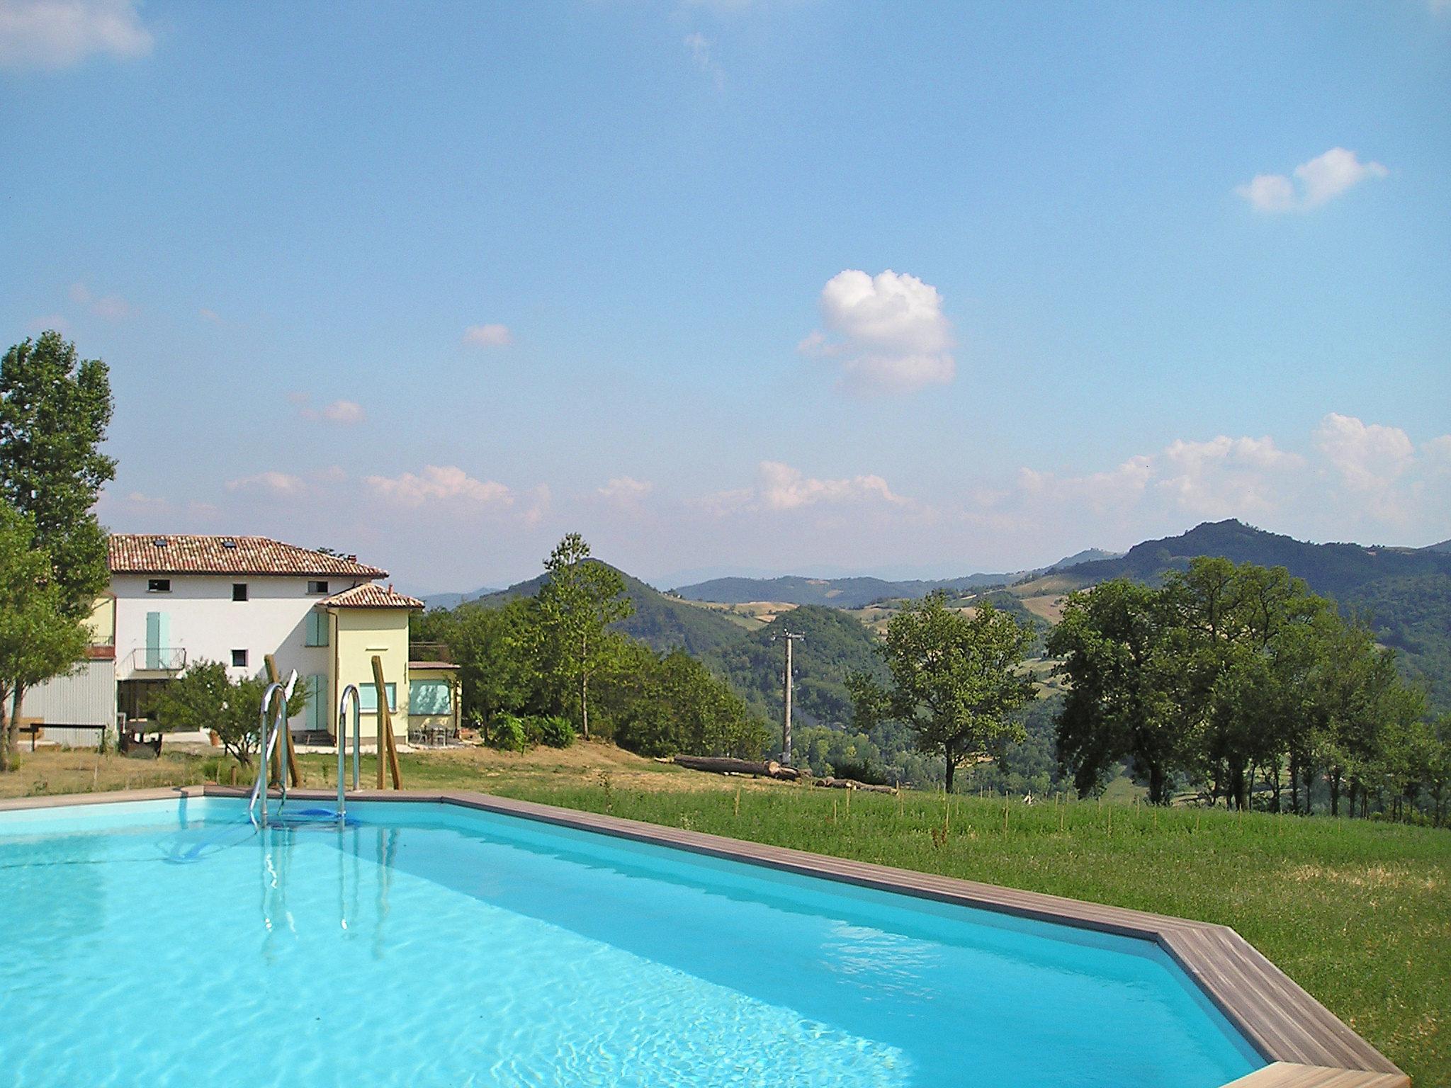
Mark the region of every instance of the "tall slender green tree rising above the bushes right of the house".
[[556, 657], [556, 673], [579, 699], [580, 733], [589, 737], [589, 679], [618, 657], [609, 624], [634, 612], [620, 572], [589, 557], [589, 544], [570, 532], [544, 561], [548, 580], [540, 589], [544, 634]]

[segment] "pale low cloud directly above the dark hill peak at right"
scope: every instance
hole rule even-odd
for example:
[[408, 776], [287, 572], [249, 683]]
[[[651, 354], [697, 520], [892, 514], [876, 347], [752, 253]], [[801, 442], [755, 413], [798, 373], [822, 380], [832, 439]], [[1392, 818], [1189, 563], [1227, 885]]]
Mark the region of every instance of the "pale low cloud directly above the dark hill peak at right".
[[1164, 450], [1162, 477], [1155, 486], [1196, 515], [1245, 516], [1275, 509], [1286, 474], [1303, 464], [1303, 457], [1280, 450], [1268, 435], [1177, 440]]

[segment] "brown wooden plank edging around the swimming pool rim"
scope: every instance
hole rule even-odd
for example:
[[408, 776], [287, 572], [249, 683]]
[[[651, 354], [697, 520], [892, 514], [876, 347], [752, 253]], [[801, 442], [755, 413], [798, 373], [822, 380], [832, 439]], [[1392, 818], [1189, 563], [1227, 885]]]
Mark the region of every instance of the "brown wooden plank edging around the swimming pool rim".
[[[274, 794], [276, 795], [276, 794]], [[100, 794], [12, 798], [0, 811], [180, 796], [247, 796], [232, 786], [163, 786]], [[337, 791], [293, 789], [299, 801], [335, 801]], [[522, 817], [580, 831], [675, 847], [769, 869], [817, 876], [937, 902], [959, 904], [1156, 943], [1270, 1062], [1225, 1088], [1410, 1088], [1410, 1078], [1302, 989], [1228, 926], [1026, 892], [977, 881], [897, 869], [663, 824], [585, 812], [472, 791], [355, 791], [350, 801], [445, 804]]]

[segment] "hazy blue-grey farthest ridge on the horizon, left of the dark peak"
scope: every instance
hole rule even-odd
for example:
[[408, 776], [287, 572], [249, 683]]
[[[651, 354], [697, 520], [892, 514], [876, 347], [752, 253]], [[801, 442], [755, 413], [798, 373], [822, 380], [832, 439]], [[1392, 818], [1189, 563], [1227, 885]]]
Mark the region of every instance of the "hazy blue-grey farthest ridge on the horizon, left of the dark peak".
[[1052, 567], [1035, 572], [1014, 570], [1007, 573], [977, 573], [962, 577], [910, 579], [891, 582], [881, 577], [715, 577], [694, 586], [681, 586], [670, 592], [686, 601], [710, 601], [721, 605], [744, 605], [750, 601], [781, 601], [788, 605], [826, 605], [829, 608], [862, 608], [876, 601], [916, 601], [934, 589], [952, 593], [969, 592], [985, 586], [1003, 586], [1008, 582], [1036, 574], [1042, 570], [1056, 570], [1090, 560], [1116, 556], [1113, 551], [1088, 548], [1077, 556], [1058, 560]]

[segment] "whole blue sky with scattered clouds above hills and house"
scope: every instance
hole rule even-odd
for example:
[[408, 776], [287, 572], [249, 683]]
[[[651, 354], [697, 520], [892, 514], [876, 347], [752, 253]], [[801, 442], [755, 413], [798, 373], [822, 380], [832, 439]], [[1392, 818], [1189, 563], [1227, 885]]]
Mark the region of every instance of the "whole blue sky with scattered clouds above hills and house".
[[116, 529], [963, 573], [1451, 537], [1451, 4], [0, 0]]

